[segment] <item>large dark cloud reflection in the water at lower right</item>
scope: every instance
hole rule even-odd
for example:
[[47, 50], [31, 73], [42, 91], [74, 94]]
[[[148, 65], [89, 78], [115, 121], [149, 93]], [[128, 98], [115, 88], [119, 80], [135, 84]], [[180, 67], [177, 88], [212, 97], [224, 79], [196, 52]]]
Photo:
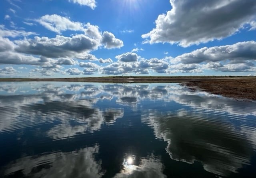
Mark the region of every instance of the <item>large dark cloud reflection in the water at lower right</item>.
[[168, 142], [166, 152], [173, 160], [189, 164], [197, 160], [208, 172], [222, 176], [250, 163], [253, 146], [248, 133], [221, 118], [185, 110], [166, 115], [147, 113], [155, 112], [146, 111], [142, 120], [154, 129], [157, 138]]

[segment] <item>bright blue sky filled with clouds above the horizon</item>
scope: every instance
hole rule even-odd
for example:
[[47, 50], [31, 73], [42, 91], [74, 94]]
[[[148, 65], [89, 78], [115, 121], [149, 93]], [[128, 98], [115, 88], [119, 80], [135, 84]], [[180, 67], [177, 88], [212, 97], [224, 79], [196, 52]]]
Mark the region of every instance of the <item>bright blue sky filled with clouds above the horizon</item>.
[[256, 0], [1, 0], [0, 78], [256, 76]]

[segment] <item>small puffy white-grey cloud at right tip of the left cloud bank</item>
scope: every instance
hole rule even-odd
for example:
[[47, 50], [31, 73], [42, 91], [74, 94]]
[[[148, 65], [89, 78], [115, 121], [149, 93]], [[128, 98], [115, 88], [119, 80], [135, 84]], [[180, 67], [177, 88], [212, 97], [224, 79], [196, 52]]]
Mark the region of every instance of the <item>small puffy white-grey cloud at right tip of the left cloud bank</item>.
[[112, 48], [121, 48], [124, 46], [122, 40], [117, 39], [114, 34], [110, 32], [103, 32], [102, 34], [102, 44], [104, 44], [104, 48], [112, 49]]

